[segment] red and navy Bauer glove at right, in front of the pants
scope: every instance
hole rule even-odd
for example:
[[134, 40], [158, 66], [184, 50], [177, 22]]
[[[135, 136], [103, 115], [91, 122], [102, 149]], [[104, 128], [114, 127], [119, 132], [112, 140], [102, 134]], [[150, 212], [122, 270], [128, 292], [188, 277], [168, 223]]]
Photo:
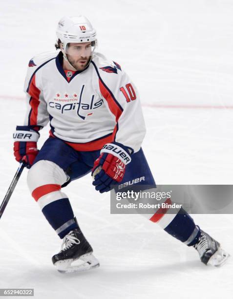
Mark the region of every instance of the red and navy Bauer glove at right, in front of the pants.
[[103, 193], [109, 191], [111, 185], [122, 181], [131, 158], [126, 147], [114, 143], [104, 145], [100, 153], [91, 174], [95, 189]]

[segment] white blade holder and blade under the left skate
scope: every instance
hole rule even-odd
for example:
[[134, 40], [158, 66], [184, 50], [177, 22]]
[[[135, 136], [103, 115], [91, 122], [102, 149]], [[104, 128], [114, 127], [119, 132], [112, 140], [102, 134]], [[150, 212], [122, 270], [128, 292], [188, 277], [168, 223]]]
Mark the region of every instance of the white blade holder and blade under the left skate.
[[91, 253], [80, 256], [75, 260], [73, 258], [60, 260], [54, 265], [60, 273], [74, 273], [98, 268], [100, 263]]

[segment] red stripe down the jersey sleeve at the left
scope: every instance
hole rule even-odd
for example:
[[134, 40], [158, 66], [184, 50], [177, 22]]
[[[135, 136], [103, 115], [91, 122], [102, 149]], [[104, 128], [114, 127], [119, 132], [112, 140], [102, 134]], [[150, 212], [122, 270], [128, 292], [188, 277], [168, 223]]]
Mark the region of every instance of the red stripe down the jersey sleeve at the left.
[[32, 78], [28, 93], [31, 96], [30, 106], [32, 107], [29, 118], [29, 125], [33, 126], [37, 125], [38, 106], [40, 104], [39, 96], [41, 93], [40, 89], [38, 89], [36, 86], [36, 75], [34, 75]]

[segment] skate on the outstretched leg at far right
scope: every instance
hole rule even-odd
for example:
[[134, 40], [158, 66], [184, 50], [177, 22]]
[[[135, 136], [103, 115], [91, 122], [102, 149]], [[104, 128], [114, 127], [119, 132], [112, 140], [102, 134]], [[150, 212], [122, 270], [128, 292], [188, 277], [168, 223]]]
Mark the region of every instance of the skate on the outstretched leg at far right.
[[193, 247], [199, 253], [201, 261], [206, 265], [221, 266], [229, 257], [229, 254], [220, 247], [220, 244], [202, 230], [198, 242]]

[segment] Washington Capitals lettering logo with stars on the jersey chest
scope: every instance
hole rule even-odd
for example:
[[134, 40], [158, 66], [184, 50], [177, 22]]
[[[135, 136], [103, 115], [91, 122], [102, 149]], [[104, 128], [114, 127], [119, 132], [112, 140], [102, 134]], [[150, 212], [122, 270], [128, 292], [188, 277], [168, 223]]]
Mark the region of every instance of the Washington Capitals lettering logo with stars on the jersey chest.
[[[92, 109], [101, 107], [102, 104], [104, 103], [104, 101], [102, 99], [100, 99], [98, 102], [94, 103], [95, 95], [93, 94], [91, 97], [91, 100], [88, 104], [82, 102], [84, 87], [85, 87], [85, 85], [83, 85], [83, 87], [82, 87], [79, 99], [78, 99], [78, 94], [76, 94], [76, 93], [74, 95], [72, 95], [73, 96], [72, 98], [70, 98], [67, 93], [64, 95], [65, 98], [62, 98], [61, 97], [62, 95], [57, 93], [56, 98], [54, 98], [54, 102], [53, 101], [49, 102], [49, 107], [59, 110], [61, 112], [61, 114], [64, 114], [67, 111], [75, 110], [75, 111], [77, 111], [77, 115], [80, 118], [82, 118], [83, 120], [85, 120], [86, 116], [90, 116], [93, 114], [93, 113], [88, 113], [87, 110], [92, 110]], [[61, 102], [66, 102], [66, 104], [61, 103]], [[69, 102], [69, 103], [67, 103], [67, 102]], [[80, 111], [81, 109], [83, 110], [82, 113]], [[84, 110], [86, 110], [86, 112], [87, 112], [87, 113], [85, 113], [85, 116], [82, 115], [82, 114], [84, 114]]]

